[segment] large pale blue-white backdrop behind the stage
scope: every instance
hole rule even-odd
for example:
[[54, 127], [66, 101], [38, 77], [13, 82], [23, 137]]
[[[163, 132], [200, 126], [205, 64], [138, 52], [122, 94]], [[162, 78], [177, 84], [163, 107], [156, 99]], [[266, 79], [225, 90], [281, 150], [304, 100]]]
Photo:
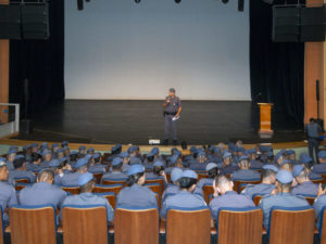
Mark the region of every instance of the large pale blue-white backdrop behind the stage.
[[66, 0], [66, 99], [250, 100], [244, 2]]

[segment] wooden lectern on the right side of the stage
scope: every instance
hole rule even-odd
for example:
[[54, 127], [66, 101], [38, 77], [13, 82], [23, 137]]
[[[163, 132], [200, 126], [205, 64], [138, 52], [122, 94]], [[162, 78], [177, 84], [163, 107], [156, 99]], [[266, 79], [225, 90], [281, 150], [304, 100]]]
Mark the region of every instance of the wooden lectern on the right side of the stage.
[[261, 138], [272, 138], [272, 107], [273, 103], [258, 103], [260, 110], [260, 130]]

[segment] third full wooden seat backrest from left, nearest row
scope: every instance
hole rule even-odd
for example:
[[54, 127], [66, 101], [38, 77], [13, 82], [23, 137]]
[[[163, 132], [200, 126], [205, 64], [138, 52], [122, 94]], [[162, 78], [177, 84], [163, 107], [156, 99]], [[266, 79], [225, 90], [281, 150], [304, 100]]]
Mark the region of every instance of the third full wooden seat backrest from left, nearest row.
[[115, 244], [159, 244], [156, 208], [116, 208], [114, 214]]

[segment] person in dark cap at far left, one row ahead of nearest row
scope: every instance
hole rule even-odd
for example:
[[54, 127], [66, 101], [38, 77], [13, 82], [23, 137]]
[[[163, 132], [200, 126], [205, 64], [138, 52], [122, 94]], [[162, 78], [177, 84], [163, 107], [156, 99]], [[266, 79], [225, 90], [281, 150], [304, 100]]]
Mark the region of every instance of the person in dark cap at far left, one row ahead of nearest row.
[[23, 155], [17, 155], [13, 162], [14, 170], [9, 172], [9, 182], [14, 184], [14, 181], [17, 179], [28, 179], [29, 183], [34, 183], [36, 180], [36, 176], [26, 171], [26, 158]]

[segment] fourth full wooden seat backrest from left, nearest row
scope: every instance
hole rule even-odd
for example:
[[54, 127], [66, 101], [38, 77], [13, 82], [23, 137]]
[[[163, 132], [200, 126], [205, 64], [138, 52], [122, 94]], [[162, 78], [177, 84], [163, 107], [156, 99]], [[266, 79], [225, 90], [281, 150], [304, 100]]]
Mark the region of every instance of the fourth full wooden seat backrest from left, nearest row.
[[167, 209], [166, 244], [210, 244], [211, 213], [208, 207]]

